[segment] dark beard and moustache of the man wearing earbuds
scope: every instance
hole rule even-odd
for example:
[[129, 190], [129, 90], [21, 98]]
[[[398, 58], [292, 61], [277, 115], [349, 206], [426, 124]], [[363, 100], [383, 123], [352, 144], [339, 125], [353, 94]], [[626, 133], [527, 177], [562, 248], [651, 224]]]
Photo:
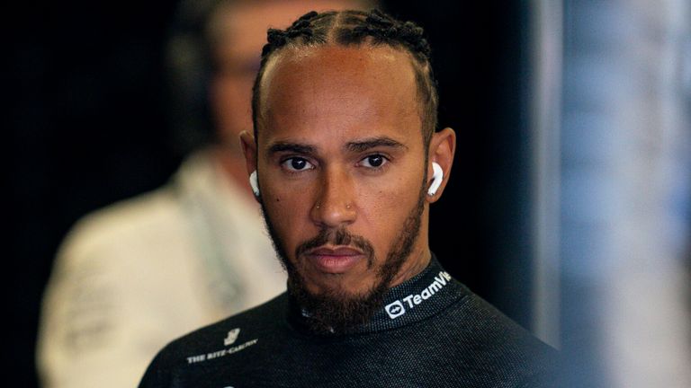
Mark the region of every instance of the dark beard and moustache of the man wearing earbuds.
[[352, 245], [357, 247], [367, 260], [367, 269], [376, 270], [374, 285], [361, 294], [351, 294], [338, 288], [329, 289], [319, 294], [313, 294], [307, 287], [305, 278], [300, 270], [288, 259], [281, 238], [276, 233], [271, 217], [268, 216], [264, 201], [260, 198], [266, 230], [268, 231], [274, 250], [288, 272], [288, 294], [301, 307], [308, 329], [317, 333], [346, 332], [351, 328], [369, 322], [372, 315], [381, 308], [384, 295], [389, 290], [391, 280], [399, 273], [403, 263], [408, 260], [417, 241], [422, 224], [422, 213], [425, 209], [426, 171], [423, 184], [417, 198], [416, 205], [410, 209], [403, 225], [391, 242], [386, 260], [378, 269], [372, 269], [376, 260], [372, 242], [362, 236], [349, 233], [346, 228], [323, 228], [315, 237], [302, 242], [295, 249], [295, 258], [300, 260], [301, 254], [317, 248], [328, 242], [333, 245]]

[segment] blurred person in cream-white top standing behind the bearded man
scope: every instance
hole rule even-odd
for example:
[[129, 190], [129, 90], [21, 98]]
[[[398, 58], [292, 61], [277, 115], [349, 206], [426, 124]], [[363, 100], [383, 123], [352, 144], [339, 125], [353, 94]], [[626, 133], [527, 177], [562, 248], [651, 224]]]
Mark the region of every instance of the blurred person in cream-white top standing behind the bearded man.
[[[181, 5], [181, 13], [194, 13], [189, 19], [203, 21], [202, 29], [196, 27], [203, 39], [173, 36], [173, 73], [188, 67], [173, 92], [198, 89], [203, 93], [184, 92], [197, 100], [208, 96], [215, 141], [197, 147], [165, 187], [86, 216], [67, 235], [42, 307], [37, 361], [44, 386], [134, 386], [169, 340], [285, 289], [238, 140], [252, 125], [251, 86], [260, 48], [270, 26], [284, 27], [312, 9], [365, 4], [214, 0]], [[196, 60], [203, 55], [194, 53], [204, 51], [195, 51], [196, 43], [207, 48], [211, 60]], [[200, 66], [204, 62], [211, 67]], [[183, 74], [190, 70], [209, 75]], [[208, 82], [198, 82], [204, 78]], [[178, 105], [172, 114], [185, 117], [183, 110], [190, 107], [184, 101]], [[183, 137], [200, 132], [178, 130]]]

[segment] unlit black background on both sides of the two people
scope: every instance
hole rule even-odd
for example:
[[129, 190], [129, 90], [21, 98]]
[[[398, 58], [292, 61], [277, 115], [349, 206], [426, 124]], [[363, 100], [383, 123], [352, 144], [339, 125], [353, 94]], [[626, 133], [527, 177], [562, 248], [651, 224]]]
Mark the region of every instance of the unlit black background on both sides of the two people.
[[[525, 2], [388, 3], [426, 28], [440, 126], [458, 135], [452, 179], [432, 207], [432, 249], [454, 277], [529, 326]], [[157, 188], [182, 160], [163, 95], [175, 2], [3, 7], [3, 361], [6, 382], [34, 387], [40, 298], [59, 242], [78, 217]]]

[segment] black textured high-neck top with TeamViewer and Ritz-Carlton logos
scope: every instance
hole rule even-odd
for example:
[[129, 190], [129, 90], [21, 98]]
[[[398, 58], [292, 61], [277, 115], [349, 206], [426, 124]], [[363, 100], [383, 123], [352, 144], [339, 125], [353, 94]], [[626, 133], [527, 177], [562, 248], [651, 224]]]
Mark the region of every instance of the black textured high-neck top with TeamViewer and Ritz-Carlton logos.
[[366, 325], [316, 335], [305, 315], [283, 294], [194, 331], [159, 352], [139, 388], [554, 386], [556, 350], [434, 258]]

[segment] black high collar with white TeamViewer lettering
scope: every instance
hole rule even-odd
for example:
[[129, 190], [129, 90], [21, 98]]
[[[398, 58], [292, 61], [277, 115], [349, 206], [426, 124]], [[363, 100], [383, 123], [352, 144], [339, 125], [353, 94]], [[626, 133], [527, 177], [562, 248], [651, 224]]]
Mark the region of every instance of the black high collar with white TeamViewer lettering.
[[[468, 289], [451, 278], [433, 253], [426, 269], [387, 291], [384, 303], [370, 322], [344, 332], [320, 335], [331, 337], [399, 328], [440, 313], [465, 295], [469, 295]], [[288, 310], [289, 322], [293, 328], [306, 334], [314, 334], [310, 333], [306, 324], [310, 319], [309, 314], [303, 313], [292, 298]]]

